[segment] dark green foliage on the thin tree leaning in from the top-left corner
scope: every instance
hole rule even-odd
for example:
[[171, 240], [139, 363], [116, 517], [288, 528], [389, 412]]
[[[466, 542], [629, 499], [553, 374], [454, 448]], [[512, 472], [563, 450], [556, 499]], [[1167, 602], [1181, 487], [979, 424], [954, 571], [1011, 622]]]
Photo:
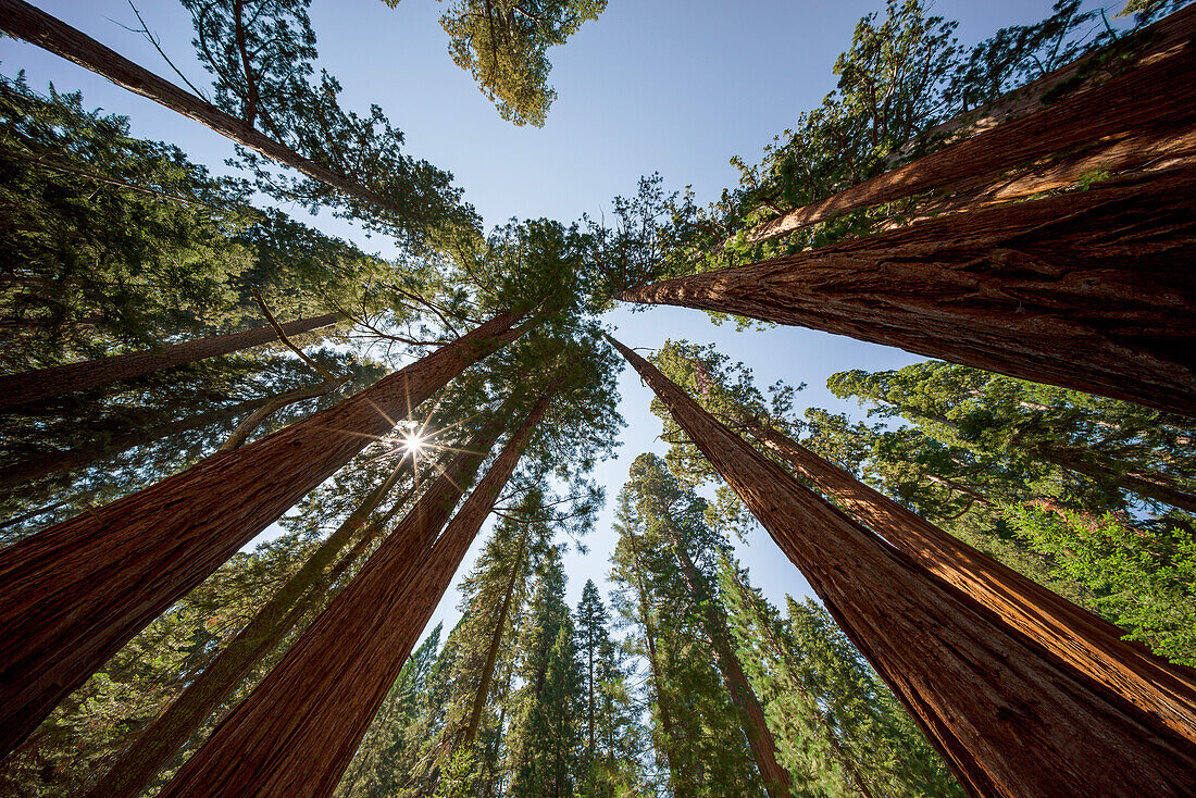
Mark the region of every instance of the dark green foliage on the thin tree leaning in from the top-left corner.
[[341, 84], [327, 71], [315, 80], [316, 35], [311, 0], [183, 0], [195, 28], [193, 44], [213, 75], [214, 100], [304, 158], [321, 164], [379, 197], [366, 202], [238, 147], [239, 164], [257, 188], [312, 213], [360, 221], [368, 230], [423, 245], [476, 226], [460, 202], [452, 175], [399, 152], [403, 134], [383, 110], [366, 115], [341, 108]]

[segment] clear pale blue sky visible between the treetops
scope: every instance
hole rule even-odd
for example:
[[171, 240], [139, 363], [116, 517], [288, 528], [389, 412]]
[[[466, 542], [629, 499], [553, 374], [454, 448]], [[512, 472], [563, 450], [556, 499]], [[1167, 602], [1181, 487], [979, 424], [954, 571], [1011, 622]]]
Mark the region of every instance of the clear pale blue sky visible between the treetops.
[[[139, 1], [139, 0], [134, 0]], [[153, 48], [117, 23], [135, 28], [126, 0], [35, 0], [68, 24], [133, 61], [173, 79]], [[634, 193], [641, 175], [660, 172], [665, 184], [692, 185], [706, 203], [738, 182], [732, 156], [753, 163], [771, 138], [794, 124], [834, 86], [835, 57], [852, 38], [856, 20], [881, 0], [610, 0], [597, 22], [551, 53], [550, 83], [559, 99], [541, 128], [504, 122], [470, 77], [452, 63], [438, 24], [441, 5], [402, 0], [391, 10], [379, 0], [315, 0], [312, 26], [319, 67], [344, 86], [342, 103], [380, 105], [407, 135], [407, 152], [451, 170], [465, 197], [487, 225], [515, 218], [549, 217], [568, 223], [610, 211], [610, 199]], [[1111, 5], [1115, 12], [1121, 4]], [[959, 20], [960, 42], [971, 44], [996, 29], [1035, 22], [1049, 0], [938, 0], [933, 12]], [[177, 2], [140, 0], [146, 22], [191, 83], [207, 75], [191, 55], [190, 19]], [[85, 69], [24, 42], [0, 41], [0, 69], [24, 68], [44, 90], [83, 90], [87, 106], [130, 117], [133, 133], [177, 144], [191, 160], [226, 171], [232, 146], [199, 123], [109, 84]], [[295, 215], [301, 217], [301, 212]], [[386, 255], [385, 240], [366, 239], [349, 225], [323, 214], [313, 224]], [[899, 368], [919, 360], [908, 353], [840, 336], [777, 328], [736, 331], [715, 327], [698, 311], [620, 309], [605, 321], [628, 346], [655, 347], [667, 339], [718, 345], [755, 372], [761, 386], [777, 379], [808, 388], [804, 406], [861, 415], [825, 390], [826, 377], [846, 368]], [[648, 413], [651, 392], [628, 368], [620, 379], [621, 410], [628, 426], [617, 459], [600, 464], [594, 479], [606, 486], [608, 507], [586, 538], [586, 555], [566, 559], [569, 596], [575, 603], [587, 578], [599, 584], [614, 546], [611, 505], [627, 469], [642, 451], [663, 453], [660, 422]], [[474, 552], [466, 559], [469, 567]], [[808, 586], [757, 530], [740, 559], [773, 601], [806, 595]], [[456, 620], [451, 593], [437, 613]]]

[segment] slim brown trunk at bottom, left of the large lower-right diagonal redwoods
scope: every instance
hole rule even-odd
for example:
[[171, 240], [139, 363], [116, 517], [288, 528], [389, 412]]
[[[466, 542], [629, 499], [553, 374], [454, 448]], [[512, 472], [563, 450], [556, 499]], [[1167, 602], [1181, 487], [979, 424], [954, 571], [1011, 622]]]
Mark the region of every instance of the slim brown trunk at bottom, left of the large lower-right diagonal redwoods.
[[714, 660], [722, 672], [722, 678], [727, 682], [727, 692], [731, 694], [731, 702], [739, 709], [740, 723], [748, 745], [751, 748], [752, 759], [759, 769], [761, 779], [764, 781], [764, 790], [769, 798], [781, 798], [789, 794], [789, 772], [776, 761], [776, 741], [764, 721], [764, 707], [756, 698], [748, 676], [744, 674], [739, 656], [731, 646], [731, 631], [727, 628], [726, 615], [721, 607], [716, 607], [713, 601], [713, 592], [708, 589], [706, 579], [698, 573], [697, 567], [685, 550], [685, 546], [675, 530], [670, 529], [669, 535], [677, 561], [681, 564], [681, 573], [685, 579], [685, 586], [690, 596], [702, 608], [702, 626], [706, 627], [706, 636], [714, 648]]

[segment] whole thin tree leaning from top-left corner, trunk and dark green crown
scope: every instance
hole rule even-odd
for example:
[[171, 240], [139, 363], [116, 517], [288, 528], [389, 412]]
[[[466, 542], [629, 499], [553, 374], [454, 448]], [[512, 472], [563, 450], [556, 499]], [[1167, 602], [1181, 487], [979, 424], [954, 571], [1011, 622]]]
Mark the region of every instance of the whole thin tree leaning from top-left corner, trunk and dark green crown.
[[[23, 0], [2, 0], [0, 11], [5, 32], [61, 55], [118, 86], [199, 121], [244, 147], [245, 157], [255, 165], [260, 165], [260, 162], [252, 159], [249, 151], [301, 172], [307, 182], [298, 182], [294, 199], [341, 205], [347, 213], [367, 224], [376, 224], [398, 234], [421, 234], [429, 223], [462, 215], [457, 205], [459, 189], [451, 187], [451, 177], [431, 164], [399, 156], [396, 145], [401, 134], [390, 127], [380, 109], [372, 109], [368, 118], [344, 112], [336, 103], [340, 85], [327, 74], [321, 86], [307, 85], [305, 78], [312, 69], [309, 59], [315, 55], [315, 36], [305, 24], [306, 2], [275, 6], [244, 2], [191, 5], [196, 11], [196, 28], [201, 33], [196, 43], [201, 49], [201, 59], [207, 60], [209, 68], [218, 75], [216, 102], [221, 108], [139, 67]], [[250, 7], [251, 5], [257, 7]], [[258, 12], [252, 19], [257, 28], [244, 24], [248, 22], [244, 14], [254, 11]], [[294, 23], [293, 26], [280, 28], [287, 18]], [[213, 28], [206, 29], [206, 24]], [[275, 26], [271, 29], [271, 25]], [[218, 41], [218, 45], [209, 45], [207, 51], [203, 49], [205, 32]], [[263, 59], [257, 63], [252, 63], [251, 59], [246, 60], [245, 53], [238, 47], [246, 44], [246, 35], [251, 33], [257, 33], [262, 37], [262, 43], [270, 45], [257, 48], [257, 55]], [[292, 44], [292, 36], [299, 37], [298, 47], [293, 48], [297, 61], [275, 57], [280, 51], [280, 42], [274, 33], [281, 33], [287, 45]], [[258, 132], [255, 124], [263, 124], [262, 108], [256, 108], [251, 115], [252, 121], [246, 121], [249, 114], [234, 115], [237, 110], [244, 112], [248, 109], [237, 109], [238, 98], [234, 92], [228, 91], [232, 83], [227, 87], [224, 85], [220, 69], [226, 61], [221, 61], [221, 56], [225, 60], [236, 59], [237, 67], [245, 71], [243, 74], [249, 79], [248, 85], [256, 85], [258, 72], [263, 68], [277, 69], [283, 74], [295, 71], [303, 78], [286, 85], [287, 90], [297, 90], [301, 85], [303, 91], [283, 93], [276, 99], [287, 104], [271, 109], [280, 116], [276, 132], [291, 134], [292, 140], [279, 141]], [[376, 130], [379, 126], [383, 128], [382, 133]], [[354, 167], [360, 169], [360, 172], [350, 171]], [[366, 183], [360, 177], [349, 177], [350, 173], [364, 173]], [[323, 190], [318, 188], [321, 185], [331, 190]], [[263, 182], [263, 188], [269, 188], [269, 183]], [[341, 194], [337, 195], [337, 191]], [[421, 211], [431, 211], [433, 218], [421, 218]], [[468, 212], [464, 213], [466, 219], [469, 215]]]

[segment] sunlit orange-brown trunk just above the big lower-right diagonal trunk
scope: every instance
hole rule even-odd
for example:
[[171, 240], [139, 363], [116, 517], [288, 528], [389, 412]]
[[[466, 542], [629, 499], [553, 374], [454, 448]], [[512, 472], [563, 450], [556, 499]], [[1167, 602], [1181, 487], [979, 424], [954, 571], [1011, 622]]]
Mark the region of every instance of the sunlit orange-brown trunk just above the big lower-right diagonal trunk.
[[1076, 671], [1196, 743], [1196, 680], [1122, 629], [977, 552], [835, 464], [755, 419], [740, 419], [798, 475], [842, 504], [902, 554], [976, 599]]

